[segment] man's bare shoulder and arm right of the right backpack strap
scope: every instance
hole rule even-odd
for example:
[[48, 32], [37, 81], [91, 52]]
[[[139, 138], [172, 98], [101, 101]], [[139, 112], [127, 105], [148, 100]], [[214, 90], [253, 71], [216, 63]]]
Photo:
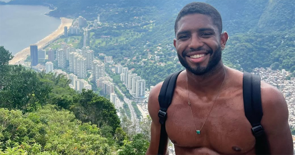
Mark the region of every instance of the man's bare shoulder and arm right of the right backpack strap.
[[261, 82], [263, 117], [271, 154], [293, 154], [293, 140], [288, 123], [288, 107], [283, 94], [269, 84]]

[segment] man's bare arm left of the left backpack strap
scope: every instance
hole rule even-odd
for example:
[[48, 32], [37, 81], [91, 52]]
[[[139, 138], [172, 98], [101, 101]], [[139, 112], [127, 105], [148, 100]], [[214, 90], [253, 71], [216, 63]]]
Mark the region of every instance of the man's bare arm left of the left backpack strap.
[[[158, 111], [160, 110], [160, 105], [158, 102], [158, 96], [160, 93], [160, 89], [162, 87], [163, 82], [157, 84], [151, 91], [148, 99], [148, 112], [150, 117], [152, 118], [151, 124], [151, 138], [150, 138], [150, 146], [146, 152], [146, 154], [158, 154], [159, 142], [160, 142], [160, 131], [161, 124], [159, 123]], [[168, 139], [167, 139], [168, 143]], [[167, 143], [165, 144], [165, 150], [167, 150]]]

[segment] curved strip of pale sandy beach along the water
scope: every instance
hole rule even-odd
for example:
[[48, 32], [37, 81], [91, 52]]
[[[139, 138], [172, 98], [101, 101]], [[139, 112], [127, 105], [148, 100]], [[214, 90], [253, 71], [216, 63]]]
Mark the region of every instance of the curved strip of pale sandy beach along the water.
[[[72, 25], [73, 19], [68, 19], [68, 18], [64, 18], [64, 17], [61, 17], [60, 19], [61, 19], [61, 24], [59, 25], [58, 29], [36, 43], [38, 45], [38, 49], [43, 48], [45, 45], [50, 43], [50, 41], [52, 41], [52, 40], [56, 39], [57, 37], [59, 37], [60, 35], [62, 35], [63, 28], [65, 26], [68, 27], [68, 29], [69, 29], [69, 27]], [[11, 64], [11, 65], [18, 64], [18, 63], [26, 60], [26, 58], [29, 55], [30, 55], [30, 46], [21, 50], [17, 54], [15, 54], [14, 58], [11, 61], [9, 61], [9, 64]]]

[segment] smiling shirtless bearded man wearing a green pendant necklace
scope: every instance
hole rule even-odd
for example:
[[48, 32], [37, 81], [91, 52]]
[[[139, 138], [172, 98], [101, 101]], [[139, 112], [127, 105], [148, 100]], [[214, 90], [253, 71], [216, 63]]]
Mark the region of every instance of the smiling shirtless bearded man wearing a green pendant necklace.
[[[167, 110], [166, 131], [175, 153], [255, 154], [255, 137], [244, 112], [243, 73], [224, 66], [221, 60], [228, 34], [222, 33], [219, 12], [209, 4], [187, 4], [178, 14], [175, 34], [174, 46], [186, 68], [177, 78]], [[150, 92], [151, 141], [146, 154], [158, 153], [158, 95], [162, 84]], [[282, 93], [261, 81], [261, 100], [261, 124], [271, 154], [293, 154], [288, 107]], [[201, 134], [196, 134], [200, 129]]]

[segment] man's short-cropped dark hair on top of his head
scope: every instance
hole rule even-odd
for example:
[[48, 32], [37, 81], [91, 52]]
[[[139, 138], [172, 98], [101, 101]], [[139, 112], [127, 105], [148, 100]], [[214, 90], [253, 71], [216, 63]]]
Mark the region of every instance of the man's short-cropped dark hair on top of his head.
[[178, 29], [179, 20], [188, 14], [205, 14], [212, 18], [213, 24], [217, 26], [219, 34], [222, 32], [222, 19], [219, 12], [211, 5], [202, 2], [192, 2], [186, 4], [180, 12], [175, 21], [174, 30], [175, 35]]

